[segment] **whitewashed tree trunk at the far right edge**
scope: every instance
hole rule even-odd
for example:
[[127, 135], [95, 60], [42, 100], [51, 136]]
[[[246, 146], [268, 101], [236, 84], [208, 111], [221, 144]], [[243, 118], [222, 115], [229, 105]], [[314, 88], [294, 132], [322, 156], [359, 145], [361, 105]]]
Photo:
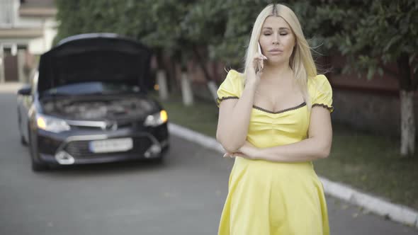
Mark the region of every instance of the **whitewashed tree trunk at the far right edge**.
[[414, 91], [400, 91], [400, 117], [400, 154], [412, 156], [415, 152]]

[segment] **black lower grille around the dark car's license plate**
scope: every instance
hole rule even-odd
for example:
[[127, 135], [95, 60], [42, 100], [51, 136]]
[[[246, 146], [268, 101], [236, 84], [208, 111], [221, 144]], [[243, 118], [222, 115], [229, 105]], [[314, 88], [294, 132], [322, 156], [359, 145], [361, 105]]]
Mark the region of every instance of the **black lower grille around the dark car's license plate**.
[[138, 154], [142, 155], [147, 151], [147, 149], [152, 145], [151, 139], [149, 137], [134, 137], [133, 140], [133, 147], [128, 151], [121, 151], [121, 152], [111, 152], [111, 153], [94, 153], [91, 152], [89, 149], [89, 142], [90, 141], [73, 141], [69, 142], [65, 147], [64, 150], [67, 151], [68, 154], [73, 156], [75, 159], [86, 159], [86, 158], [95, 158], [95, 157], [103, 157], [103, 156], [111, 156], [115, 154]]

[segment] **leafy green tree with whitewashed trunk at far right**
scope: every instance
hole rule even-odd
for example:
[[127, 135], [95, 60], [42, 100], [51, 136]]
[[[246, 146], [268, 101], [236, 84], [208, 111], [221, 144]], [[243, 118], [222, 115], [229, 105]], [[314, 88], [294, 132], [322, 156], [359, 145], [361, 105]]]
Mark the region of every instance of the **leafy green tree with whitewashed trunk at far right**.
[[[417, 91], [418, 3], [401, 1], [330, 1], [317, 8], [317, 22], [332, 23], [323, 35], [348, 58], [344, 72], [377, 73], [399, 81], [402, 156], [412, 156], [415, 146], [414, 91]], [[389, 69], [396, 64], [397, 71]]]

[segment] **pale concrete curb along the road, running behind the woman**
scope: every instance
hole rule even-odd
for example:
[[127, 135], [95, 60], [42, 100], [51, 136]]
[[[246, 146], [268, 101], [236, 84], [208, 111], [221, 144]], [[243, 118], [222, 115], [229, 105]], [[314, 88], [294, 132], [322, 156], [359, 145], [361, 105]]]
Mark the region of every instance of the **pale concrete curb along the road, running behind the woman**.
[[[183, 139], [187, 139], [190, 142], [200, 144], [208, 149], [218, 151], [220, 154], [225, 153], [225, 150], [215, 139], [208, 137], [205, 134], [200, 134], [173, 123], [169, 123], [169, 132]], [[324, 185], [324, 192], [328, 195], [366, 208], [366, 210], [370, 212], [379, 214], [383, 217], [388, 217], [395, 222], [400, 222], [402, 224], [418, 228], [418, 212], [416, 210], [412, 210], [412, 208], [404, 205], [393, 204], [381, 198], [361, 193], [359, 190], [351, 188], [349, 185], [333, 182], [321, 176], [320, 180], [322, 185]]]

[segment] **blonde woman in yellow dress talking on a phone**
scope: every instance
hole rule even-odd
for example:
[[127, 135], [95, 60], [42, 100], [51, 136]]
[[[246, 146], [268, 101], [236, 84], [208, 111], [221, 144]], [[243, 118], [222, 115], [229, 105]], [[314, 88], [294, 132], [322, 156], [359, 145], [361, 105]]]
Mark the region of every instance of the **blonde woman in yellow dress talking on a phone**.
[[290, 8], [261, 11], [244, 73], [228, 72], [218, 105], [216, 137], [235, 158], [218, 234], [329, 234], [312, 161], [331, 149], [332, 89]]

